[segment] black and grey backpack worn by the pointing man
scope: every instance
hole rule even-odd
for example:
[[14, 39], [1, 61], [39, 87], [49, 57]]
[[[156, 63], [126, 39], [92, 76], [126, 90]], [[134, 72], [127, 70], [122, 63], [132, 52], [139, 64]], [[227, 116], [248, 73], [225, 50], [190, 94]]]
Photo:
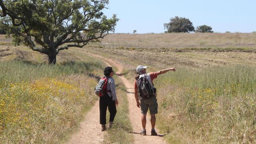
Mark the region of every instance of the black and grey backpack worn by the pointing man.
[[142, 99], [147, 99], [155, 96], [155, 92], [148, 82], [148, 79], [144, 76], [136, 80], [138, 86], [138, 93]]

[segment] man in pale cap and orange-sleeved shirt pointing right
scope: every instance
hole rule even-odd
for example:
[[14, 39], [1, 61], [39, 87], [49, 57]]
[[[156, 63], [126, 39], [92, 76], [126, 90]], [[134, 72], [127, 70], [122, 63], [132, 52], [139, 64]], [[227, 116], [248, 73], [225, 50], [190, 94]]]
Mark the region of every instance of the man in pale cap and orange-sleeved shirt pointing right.
[[[135, 92], [134, 96], [135, 96], [135, 99], [137, 102], [137, 107], [141, 109], [141, 114], [142, 114], [141, 123], [142, 123], [143, 129], [141, 130], [140, 134], [146, 135], [146, 123], [147, 123], [146, 116], [147, 116], [147, 112], [148, 112], [148, 108], [149, 108], [149, 112], [151, 115], [150, 121], [151, 121], [151, 126], [152, 126], [151, 135], [157, 135], [156, 130], [155, 130], [155, 124], [156, 124], [155, 114], [157, 114], [157, 108], [158, 108], [156, 94], [155, 94], [155, 96], [151, 96], [149, 98], [142, 99], [140, 97], [140, 95], [138, 95], [138, 86], [137, 86], [138, 79], [140, 77], [146, 77], [148, 80], [148, 83], [151, 85], [152, 88], [154, 88], [153, 80], [155, 78], [157, 78], [158, 75], [164, 74], [171, 70], [175, 71], [176, 67], [163, 69], [158, 72], [151, 72], [149, 74], [146, 73], [146, 68], [147, 68], [147, 66], [141, 66], [141, 65], [137, 67], [137, 75], [135, 76], [135, 81], [134, 81], [134, 92]], [[140, 100], [140, 102], [139, 102], [139, 100]]]

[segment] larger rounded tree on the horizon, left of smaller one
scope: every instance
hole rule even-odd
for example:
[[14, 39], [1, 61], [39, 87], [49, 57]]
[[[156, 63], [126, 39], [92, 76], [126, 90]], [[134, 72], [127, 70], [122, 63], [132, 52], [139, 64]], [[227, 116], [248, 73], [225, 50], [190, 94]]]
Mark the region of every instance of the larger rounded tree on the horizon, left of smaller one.
[[192, 32], [195, 31], [195, 27], [193, 23], [186, 18], [175, 16], [174, 18], [170, 19], [169, 23], [164, 23], [164, 29], [167, 29], [165, 33], [171, 32]]

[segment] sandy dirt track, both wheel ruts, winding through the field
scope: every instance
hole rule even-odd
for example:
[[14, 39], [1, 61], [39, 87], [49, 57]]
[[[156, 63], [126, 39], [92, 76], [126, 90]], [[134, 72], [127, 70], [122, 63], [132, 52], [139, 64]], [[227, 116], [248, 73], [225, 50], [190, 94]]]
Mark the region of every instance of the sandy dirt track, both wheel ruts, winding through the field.
[[[82, 52], [82, 51], [79, 51], [79, 52]], [[82, 52], [82, 53], [85, 53], [85, 52]], [[103, 60], [108, 66], [112, 65], [117, 67], [118, 71], [116, 72], [116, 75], [121, 74], [121, 72], [123, 71], [122, 66], [118, 65], [113, 60], [105, 59], [99, 55], [95, 55], [91, 53], [85, 53], [85, 54], [98, 58], [100, 60]], [[119, 75], [119, 78], [123, 80], [125, 87], [133, 88], [133, 85], [124, 76]], [[128, 91], [131, 92], [131, 90], [132, 89], [129, 89]], [[127, 97], [129, 102], [129, 117], [132, 122], [132, 128], [133, 128], [134, 143], [135, 144], [165, 143], [162, 137], [163, 135], [158, 135], [158, 136], [150, 135], [151, 134], [150, 120], [147, 121], [147, 125], [146, 125], [146, 130], [148, 135], [142, 136], [139, 134], [142, 128], [140, 108], [136, 106], [136, 100], [134, 98], [134, 94], [127, 93]], [[100, 131], [98, 111], [99, 111], [99, 104], [97, 102], [95, 106], [92, 108], [92, 110], [86, 115], [85, 121], [81, 124], [81, 130], [76, 134], [74, 134], [68, 143], [101, 143], [102, 142], [102, 136], [104, 134], [103, 132]], [[87, 134], [88, 132], [90, 134]]]

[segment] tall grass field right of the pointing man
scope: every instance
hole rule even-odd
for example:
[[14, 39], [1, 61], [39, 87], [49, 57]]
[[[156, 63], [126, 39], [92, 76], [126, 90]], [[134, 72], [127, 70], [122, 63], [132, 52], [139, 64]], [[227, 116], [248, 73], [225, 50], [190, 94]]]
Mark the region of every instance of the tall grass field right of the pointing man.
[[158, 128], [170, 143], [255, 143], [255, 70], [178, 68], [158, 76]]

